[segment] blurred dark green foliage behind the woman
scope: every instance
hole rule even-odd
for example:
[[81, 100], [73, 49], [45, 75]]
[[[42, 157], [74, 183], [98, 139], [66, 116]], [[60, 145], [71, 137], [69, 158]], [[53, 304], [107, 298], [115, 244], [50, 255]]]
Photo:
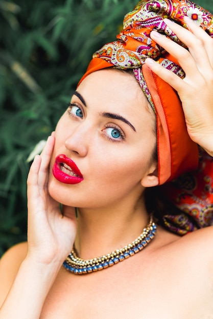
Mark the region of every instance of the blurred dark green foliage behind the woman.
[[[0, 0], [0, 256], [26, 240], [27, 158], [138, 0]], [[213, 0], [198, 4], [213, 12]]]

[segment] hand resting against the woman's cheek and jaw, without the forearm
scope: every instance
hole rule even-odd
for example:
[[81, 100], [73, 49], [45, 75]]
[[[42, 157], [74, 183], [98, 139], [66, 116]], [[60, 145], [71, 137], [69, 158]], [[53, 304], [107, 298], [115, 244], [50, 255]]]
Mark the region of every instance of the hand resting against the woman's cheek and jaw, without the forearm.
[[48, 192], [49, 165], [55, 139], [48, 138], [28, 176], [28, 256], [43, 264], [61, 265], [76, 236], [74, 207], [63, 207]]

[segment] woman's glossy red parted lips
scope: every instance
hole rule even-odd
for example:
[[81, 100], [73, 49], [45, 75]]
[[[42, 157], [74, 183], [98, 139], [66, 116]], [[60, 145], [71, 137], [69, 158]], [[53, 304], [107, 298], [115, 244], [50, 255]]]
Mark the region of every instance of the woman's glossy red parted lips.
[[[69, 175], [62, 171], [62, 164], [66, 164], [70, 170], [78, 176]], [[72, 161], [72, 159], [66, 157], [64, 154], [56, 156], [56, 162], [53, 166], [53, 176], [65, 184], [78, 184], [83, 180], [83, 175], [77, 165]]]

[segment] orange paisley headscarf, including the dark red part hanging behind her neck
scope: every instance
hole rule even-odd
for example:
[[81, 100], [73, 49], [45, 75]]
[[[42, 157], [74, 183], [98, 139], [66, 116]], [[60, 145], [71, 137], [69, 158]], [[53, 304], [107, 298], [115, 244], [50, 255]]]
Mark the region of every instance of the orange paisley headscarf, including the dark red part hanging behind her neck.
[[[164, 223], [180, 234], [213, 223], [210, 217], [213, 215], [212, 158], [203, 153], [199, 155], [198, 146], [187, 134], [177, 92], [154, 74], [145, 65], [145, 60], [147, 57], [152, 58], [184, 78], [184, 71], [177, 60], [150, 37], [151, 31], [156, 30], [185, 47], [163, 21], [169, 18], [188, 29], [184, 16], [190, 17], [213, 37], [212, 14], [191, 1], [140, 1], [132, 12], [126, 14], [124, 29], [116, 36], [116, 40], [94, 53], [79, 82], [88, 74], [107, 67], [133, 69], [135, 78], [156, 114], [159, 185], [167, 182], [163, 185], [164, 192], [183, 211], [183, 215], [164, 216]], [[196, 171], [194, 175], [191, 173], [189, 184], [185, 175], [188, 171]], [[177, 181], [179, 176], [185, 176], [181, 183]]]

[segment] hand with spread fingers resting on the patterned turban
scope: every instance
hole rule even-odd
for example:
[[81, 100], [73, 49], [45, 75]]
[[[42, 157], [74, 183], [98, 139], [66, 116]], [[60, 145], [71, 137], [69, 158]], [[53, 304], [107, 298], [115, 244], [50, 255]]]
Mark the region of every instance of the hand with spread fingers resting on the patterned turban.
[[155, 31], [151, 32], [151, 38], [178, 60], [185, 78], [154, 60], [147, 59], [146, 64], [177, 91], [188, 134], [213, 156], [213, 39], [190, 18], [185, 22], [191, 31], [168, 19], [164, 21], [188, 50]]

